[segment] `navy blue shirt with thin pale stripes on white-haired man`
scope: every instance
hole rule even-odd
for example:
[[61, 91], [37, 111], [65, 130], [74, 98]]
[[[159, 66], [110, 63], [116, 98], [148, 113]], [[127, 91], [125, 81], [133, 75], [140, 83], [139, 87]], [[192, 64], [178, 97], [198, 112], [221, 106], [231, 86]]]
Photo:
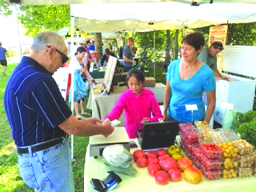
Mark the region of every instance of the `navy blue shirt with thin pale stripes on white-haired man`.
[[51, 74], [25, 56], [7, 82], [4, 106], [16, 146], [65, 136], [58, 125], [72, 114]]

